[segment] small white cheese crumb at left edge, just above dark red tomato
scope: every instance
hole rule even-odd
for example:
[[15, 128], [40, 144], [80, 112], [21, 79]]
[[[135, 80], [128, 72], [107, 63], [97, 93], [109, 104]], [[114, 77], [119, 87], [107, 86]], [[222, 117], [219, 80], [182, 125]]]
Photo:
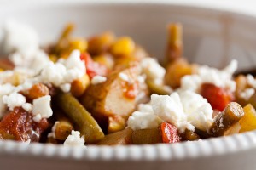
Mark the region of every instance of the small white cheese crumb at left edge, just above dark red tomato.
[[3, 96], [3, 103], [9, 107], [10, 111], [13, 111], [15, 107], [24, 105], [26, 98], [22, 94], [12, 93]]

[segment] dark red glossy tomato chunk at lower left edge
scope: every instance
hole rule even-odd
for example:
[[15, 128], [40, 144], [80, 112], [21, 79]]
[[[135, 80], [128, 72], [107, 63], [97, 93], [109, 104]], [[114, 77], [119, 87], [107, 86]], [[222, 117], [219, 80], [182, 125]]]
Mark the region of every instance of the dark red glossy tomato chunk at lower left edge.
[[38, 142], [41, 133], [49, 127], [49, 122], [42, 119], [33, 122], [32, 114], [21, 107], [15, 107], [0, 122], [0, 139], [14, 139], [20, 141], [31, 140]]

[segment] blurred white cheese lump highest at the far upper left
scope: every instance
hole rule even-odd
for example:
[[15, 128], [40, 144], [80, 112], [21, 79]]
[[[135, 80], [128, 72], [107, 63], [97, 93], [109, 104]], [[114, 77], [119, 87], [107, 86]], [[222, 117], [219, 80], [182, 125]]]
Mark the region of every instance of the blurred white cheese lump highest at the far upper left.
[[38, 33], [31, 27], [9, 20], [3, 27], [3, 51], [6, 54], [14, 51], [32, 56], [39, 48]]

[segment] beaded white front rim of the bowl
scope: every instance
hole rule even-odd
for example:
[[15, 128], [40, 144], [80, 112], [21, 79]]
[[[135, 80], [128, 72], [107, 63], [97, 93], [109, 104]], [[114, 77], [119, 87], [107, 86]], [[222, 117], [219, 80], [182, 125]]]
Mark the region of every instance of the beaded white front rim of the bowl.
[[64, 146], [0, 140], [1, 156], [73, 161], [179, 161], [227, 156], [256, 149], [256, 131], [174, 144]]

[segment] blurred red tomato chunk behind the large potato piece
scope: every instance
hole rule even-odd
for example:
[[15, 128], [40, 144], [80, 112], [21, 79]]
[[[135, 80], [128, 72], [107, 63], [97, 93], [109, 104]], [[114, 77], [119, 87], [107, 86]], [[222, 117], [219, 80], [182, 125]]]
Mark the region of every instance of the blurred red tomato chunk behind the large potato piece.
[[80, 59], [84, 60], [85, 67], [86, 67], [86, 73], [90, 77], [95, 77], [97, 75], [100, 76], [106, 76], [108, 72], [108, 68], [106, 65], [101, 65], [100, 63], [95, 62], [91, 59], [90, 54], [83, 53], [80, 56]]

